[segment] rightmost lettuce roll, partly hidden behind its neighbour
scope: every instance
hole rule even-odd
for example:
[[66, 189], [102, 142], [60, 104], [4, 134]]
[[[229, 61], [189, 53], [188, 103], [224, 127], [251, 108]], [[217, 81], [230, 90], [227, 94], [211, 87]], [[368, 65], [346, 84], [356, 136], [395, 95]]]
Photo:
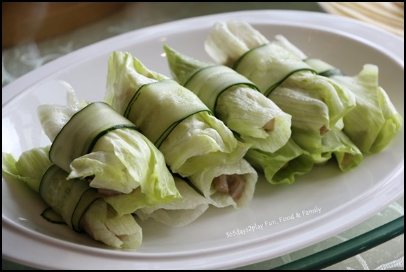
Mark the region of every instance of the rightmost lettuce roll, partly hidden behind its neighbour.
[[377, 153], [390, 144], [401, 129], [403, 118], [388, 94], [379, 86], [378, 66], [365, 64], [355, 76], [346, 76], [339, 68], [321, 59], [308, 58], [284, 36], [275, 36], [275, 40], [319, 74], [351, 90], [357, 105], [344, 116], [343, 130], [362, 152]]

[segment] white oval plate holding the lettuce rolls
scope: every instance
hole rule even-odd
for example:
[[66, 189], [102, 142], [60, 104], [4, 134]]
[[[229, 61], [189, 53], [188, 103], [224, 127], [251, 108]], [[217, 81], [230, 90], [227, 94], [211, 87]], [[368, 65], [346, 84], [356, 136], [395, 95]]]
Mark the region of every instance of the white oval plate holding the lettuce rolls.
[[[216, 21], [230, 19], [251, 23], [269, 39], [282, 34], [308, 55], [325, 59], [347, 74], [356, 74], [363, 64], [377, 64], [380, 84], [403, 115], [404, 42], [400, 38], [329, 14], [234, 12], [124, 33], [60, 57], [10, 83], [3, 88], [2, 151], [19, 155], [50, 144], [36, 108], [44, 103], [65, 105], [65, 93], [47, 83], [52, 79], [68, 81], [81, 99], [102, 100], [112, 51], [129, 51], [152, 70], [170, 75], [161, 56], [163, 44], [211, 60], [203, 46], [208, 31]], [[347, 230], [400, 198], [403, 137], [402, 128], [388, 148], [367, 156], [347, 173], [328, 164], [288, 186], [271, 186], [261, 177], [254, 200], [243, 210], [209, 208], [184, 228], [141, 222], [144, 241], [135, 251], [110, 249], [86, 234], [44, 221], [40, 213], [45, 205], [38, 195], [23, 184], [3, 179], [3, 258], [42, 269], [115, 270], [231, 269], [269, 260]]]

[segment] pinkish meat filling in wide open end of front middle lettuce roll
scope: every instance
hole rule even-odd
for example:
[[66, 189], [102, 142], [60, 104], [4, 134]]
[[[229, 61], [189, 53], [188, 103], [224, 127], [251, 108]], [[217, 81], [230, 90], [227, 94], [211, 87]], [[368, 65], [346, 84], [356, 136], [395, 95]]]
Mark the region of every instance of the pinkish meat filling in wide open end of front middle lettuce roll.
[[245, 189], [245, 180], [238, 174], [221, 175], [213, 180], [219, 193], [228, 193], [234, 201], [239, 200]]

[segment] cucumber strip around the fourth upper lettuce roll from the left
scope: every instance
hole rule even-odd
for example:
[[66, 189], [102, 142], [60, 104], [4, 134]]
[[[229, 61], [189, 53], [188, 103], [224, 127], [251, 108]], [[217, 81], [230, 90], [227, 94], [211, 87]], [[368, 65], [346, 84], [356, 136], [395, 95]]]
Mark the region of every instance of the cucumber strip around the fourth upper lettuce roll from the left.
[[312, 67], [276, 42], [247, 51], [233, 69], [254, 82], [265, 96], [295, 72], [308, 70], [316, 74]]

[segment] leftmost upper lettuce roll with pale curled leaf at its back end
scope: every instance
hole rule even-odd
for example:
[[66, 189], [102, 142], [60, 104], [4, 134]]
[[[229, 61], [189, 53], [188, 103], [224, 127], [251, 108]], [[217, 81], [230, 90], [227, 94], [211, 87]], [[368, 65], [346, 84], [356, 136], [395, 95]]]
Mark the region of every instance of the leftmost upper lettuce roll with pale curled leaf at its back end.
[[52, 141], [49, 157], [68, 179], [86, 178], [105, 195], [139, 188], [150, 204], [181, 198], [163, 154], [132, 122], [107, 103], [79, 105], [72, 87], [61, 83], [68, 105], [41, 105], [38, 117]]

